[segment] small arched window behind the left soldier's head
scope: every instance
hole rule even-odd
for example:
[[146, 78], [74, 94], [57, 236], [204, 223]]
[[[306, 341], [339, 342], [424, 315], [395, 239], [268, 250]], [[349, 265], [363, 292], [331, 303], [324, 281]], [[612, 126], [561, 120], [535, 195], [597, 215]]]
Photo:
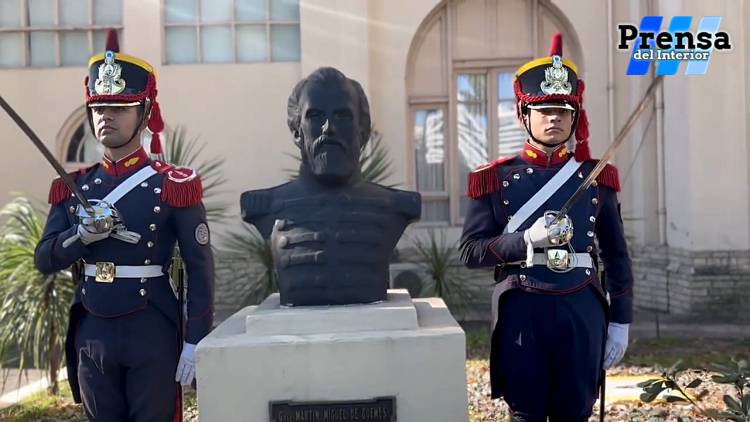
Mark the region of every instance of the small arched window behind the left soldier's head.
[[[151, 133], [144, 130], [141, 133], [141, 144], [146, 147], [146, 151], [150, 143]], [[58, 154], [60, 162], [67, 168], [76, 169], [101, 160], [104, 147], [91, 133], [85, 106], [71, 113], [63, 124], [58, 134], [58, 145], [60, 145]]]

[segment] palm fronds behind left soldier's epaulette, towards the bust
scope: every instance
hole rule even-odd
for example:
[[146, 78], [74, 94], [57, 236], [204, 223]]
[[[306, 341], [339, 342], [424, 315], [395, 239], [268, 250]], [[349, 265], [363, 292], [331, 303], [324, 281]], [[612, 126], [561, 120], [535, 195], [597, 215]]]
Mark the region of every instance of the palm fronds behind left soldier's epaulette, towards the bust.
[[218, 222], [227, 217], [227, 204], [215, 200], [216, 195], [220, 193], [217, 188], [227, 182], [222, 171], [224, 158], [215, 156], [199, 161], [205, 147], [205, 144], [199, 143], [197, 137], [188, 139], [184, 127], [176, 126], [169, 142], [165, 142], [163, 159], [176, 166], [195, 169], [203, 182], [206, 216], [209, 222]]

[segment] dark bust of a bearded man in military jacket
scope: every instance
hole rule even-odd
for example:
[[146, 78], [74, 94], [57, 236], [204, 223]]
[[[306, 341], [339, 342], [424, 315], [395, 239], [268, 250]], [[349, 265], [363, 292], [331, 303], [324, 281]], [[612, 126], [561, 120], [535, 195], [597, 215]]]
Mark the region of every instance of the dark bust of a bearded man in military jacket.
[[271, 238], [281, 304], [384, 300], [389, 258], [419, 219], [421, 198], [362, 180], [371, 129], [362, 87], [320, 68], [294, 87], [287, 124], [302, 155], [299, 177], [240, 198], [242, 219]]

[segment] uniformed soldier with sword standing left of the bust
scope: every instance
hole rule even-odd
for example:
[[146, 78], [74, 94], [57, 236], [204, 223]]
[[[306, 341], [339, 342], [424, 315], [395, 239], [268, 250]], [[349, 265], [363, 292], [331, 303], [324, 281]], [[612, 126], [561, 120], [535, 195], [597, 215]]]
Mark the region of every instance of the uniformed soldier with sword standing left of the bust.
[[[89, 60], [86, 104], [102, 161], [72, 174], [97, 218], [60, 179], [36, 266], [42, 273], [77, 268], [66, 339], [68, 379], [91, 421], [180, 420], [179, 387], [195, 375], [195, 345], [211, 329], [213, 256], [199, 177], [155, 161], [141, 146], [163, 129], [152, 67], [107, 51]], [[168, 275], [175, 243], [190, 285], [184, 338], [177, 291]], [[179, 381], [176, 382], [176, 381]]]

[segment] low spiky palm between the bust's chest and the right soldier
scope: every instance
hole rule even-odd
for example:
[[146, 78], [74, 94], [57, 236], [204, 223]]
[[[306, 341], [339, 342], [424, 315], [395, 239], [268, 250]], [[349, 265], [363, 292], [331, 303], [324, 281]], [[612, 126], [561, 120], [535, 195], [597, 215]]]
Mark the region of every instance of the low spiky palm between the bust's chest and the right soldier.
[[436, 234], [434, 229], [428, 229], [426, 239], [414, 237], [412, 245], [417, 263], [430, 276], [421, 295], [443, 298], [446, 305], [454, 311], [464, 310], [476, 299], [476, 293], [468, 286], [467, 276], [462, 272], [461, 266], [457, 265], [457, 245], [448, 243], [444, 230]]

